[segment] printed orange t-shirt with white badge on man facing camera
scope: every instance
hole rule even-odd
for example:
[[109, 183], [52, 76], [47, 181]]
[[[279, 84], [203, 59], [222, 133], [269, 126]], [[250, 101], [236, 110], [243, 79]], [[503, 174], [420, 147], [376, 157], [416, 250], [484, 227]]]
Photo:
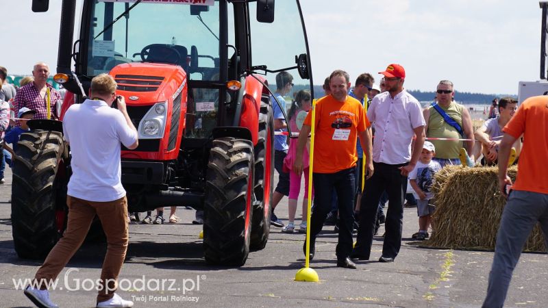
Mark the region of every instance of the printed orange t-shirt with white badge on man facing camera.
[[[334, 173], [356, 166], [358, 133], [371, 126], [362, 104], [347, 96], [340, 102], [327, 95], [316, 102], [314, 131], [314, 166], [316, 173]], [[312, 112], [304, 125], [312, 127]]]

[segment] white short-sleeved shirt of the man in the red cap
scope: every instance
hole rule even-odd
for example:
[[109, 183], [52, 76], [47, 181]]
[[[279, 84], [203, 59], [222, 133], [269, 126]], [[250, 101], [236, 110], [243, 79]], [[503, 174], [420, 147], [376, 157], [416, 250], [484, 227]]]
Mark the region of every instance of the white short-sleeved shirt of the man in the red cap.
[[413, 129], [425, 125], [421, 103], [406, 90], [394, 98], [389, 92], [382, 92], [371, 101], [367, 118], [375, 124], [373, 162], [410, 162]]

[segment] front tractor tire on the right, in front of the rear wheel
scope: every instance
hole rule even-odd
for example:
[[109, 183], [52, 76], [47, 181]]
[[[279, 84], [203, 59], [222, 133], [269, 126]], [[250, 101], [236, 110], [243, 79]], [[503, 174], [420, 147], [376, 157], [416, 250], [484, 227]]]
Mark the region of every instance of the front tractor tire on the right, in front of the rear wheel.
[[242, 266], [247, 260], [253, 215], [253, 161], [249, 140], [213, 140], [203, 206], [203, 255], [210, 264]]

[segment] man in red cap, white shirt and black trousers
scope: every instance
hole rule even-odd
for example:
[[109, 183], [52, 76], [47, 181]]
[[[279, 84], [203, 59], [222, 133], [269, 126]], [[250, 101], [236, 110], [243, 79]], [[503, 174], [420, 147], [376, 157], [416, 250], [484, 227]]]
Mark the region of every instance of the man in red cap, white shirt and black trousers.
[[[373, 177], [365, 182], [360, 206], [358, 241], [353, 259], [369, 260], [375, 222], [382, 193], [388, 193], [384, 244], [379, 262], [393, 262], [401, 246], [403, 229], [403, 198], [407, 177], [419, 160], [424, 143], [425, 121], [421, 103], [403, 89], [406, 71], [399, 64], [390, 64], [384, 72], [387, 92], [377, 94], [367, 110], [367, 118], [375, 125], [373, 142]], [[411, 144], [416, 136], [413, 151]]]

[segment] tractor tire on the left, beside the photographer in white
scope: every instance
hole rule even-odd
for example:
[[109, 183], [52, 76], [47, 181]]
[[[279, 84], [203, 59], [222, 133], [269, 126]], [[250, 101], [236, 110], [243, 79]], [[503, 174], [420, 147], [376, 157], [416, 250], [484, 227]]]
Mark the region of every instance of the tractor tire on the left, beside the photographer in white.
[[60, 165], [64, 168], [62, 158], [67, 152], [58, 131], [37, 129], [21, 134], [12, 185], [12, 232], [19, 257], [45, 258], [62, 235], [66, 181], [56, 175]]

